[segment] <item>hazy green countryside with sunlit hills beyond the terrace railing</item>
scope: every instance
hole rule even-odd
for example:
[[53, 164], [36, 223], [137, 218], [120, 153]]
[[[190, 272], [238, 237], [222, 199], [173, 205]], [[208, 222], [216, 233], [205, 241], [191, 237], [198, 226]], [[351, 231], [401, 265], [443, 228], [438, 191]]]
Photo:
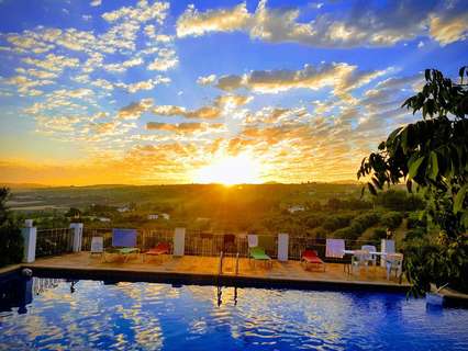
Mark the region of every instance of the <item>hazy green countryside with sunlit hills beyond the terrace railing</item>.
[[[13, 191], [8, 204], [19, 218], [33, 218], [43, 228], [66, 227], [79, 218], [94, 228], [183, 226], [377, 240], [403, 222], [401, 234], [408, 225], [424, 228], [417, 220], [424, 208], [421, 196], [395, 188], [376, 199], [361, 199], [361, 188], [357, 183], [36, 188]], [[359, 220], [363, 226], [352, 231]]]

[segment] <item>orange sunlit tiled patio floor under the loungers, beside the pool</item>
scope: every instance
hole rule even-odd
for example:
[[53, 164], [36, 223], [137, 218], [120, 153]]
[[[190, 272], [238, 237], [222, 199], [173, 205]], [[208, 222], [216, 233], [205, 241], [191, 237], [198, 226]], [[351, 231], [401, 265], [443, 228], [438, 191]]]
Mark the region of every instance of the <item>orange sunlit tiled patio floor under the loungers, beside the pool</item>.
[[[185, 274], [185, 275], [204, 275], [218, 276], [220, 258], [183, 256], [172, 258], [165, 256], [159, 258], [148, 258], [143, 261], [143, 257], [132, 257], [124, 262], [119, 257], [107, 254], [108, 262], [103, 262], [100, 257], [90, 257], [89, 252], [69, 253], [64, 256], [37, 259], [34, 263], [24, 264], [33, 269], [45, 271], [82, 271], [92, 272], [125, 272], [129, 276], [132, 272], [138, 274], [154, 274], [164, 276], [165, 274]], [[235, 275], [235, 258], [225, 258], [223, 261], [223, 276]], [[394, 276], [388, 281], [386, 271], [380, 267], [355, 269], [353, 274], [348, 274], [341, 263], [326, 263], [326, 270], [307, 271], [298, 261], [278, 262], [272, 261], [271, 268], [266, 268], [261, 263], [253, 264], [246, 258], [241, 258], [238, 262], [239, 279], [260, 280], [260, 281], [298, 281], [298, 282], [317, 282], [317, 283], [342, 283], [345, 285], [374, 285], [380, 287], [401, 287], [408, 288], [409, 284], [403, 280], [399, 283]]]

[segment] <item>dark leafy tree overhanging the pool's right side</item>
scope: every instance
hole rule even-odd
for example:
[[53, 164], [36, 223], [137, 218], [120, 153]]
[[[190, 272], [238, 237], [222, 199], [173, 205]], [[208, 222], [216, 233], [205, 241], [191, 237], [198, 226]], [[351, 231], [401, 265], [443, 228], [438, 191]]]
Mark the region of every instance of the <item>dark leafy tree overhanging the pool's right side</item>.
[[[374, 195], [385, 185], [406, 182], [426, 200], [423, 212], [439, 229], [438, 242], [430, 248], [410, 248], [405, 254], [406, 276], [413, 293], [422, 294], [430, 283], [450, 282], [468, 288], [468, 67], [455, 83], [435, 69], [425, 70], [422, 91], [402, 107], [422, 113], [422, 121], [393, 131], [377, 152], [363, 159], [357, 178], [369, 177]], [[364, 189], [363, 189], [364, 190]], [[426, 257], [424, 257], [426, 254]], [[427, 260], [425, 260], [425, 258]], [[425, 263], [427, 261], [427, 263]]]

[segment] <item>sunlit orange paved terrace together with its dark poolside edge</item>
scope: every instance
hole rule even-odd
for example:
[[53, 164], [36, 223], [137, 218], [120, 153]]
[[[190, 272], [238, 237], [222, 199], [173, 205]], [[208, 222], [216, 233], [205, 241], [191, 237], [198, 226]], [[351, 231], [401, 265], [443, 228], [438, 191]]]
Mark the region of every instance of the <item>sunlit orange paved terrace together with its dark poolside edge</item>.
[[126, 262], [122, 258], [107, 254], [109, 262], [100, 257], [90, 257], [89, 252], [68, 253], [56, 257], [41, 258], [34, 263], [24, 263], [35, 274], [49, 275], [51, 273], [76, 276], [77, 279], [94, 278], [99, 280], [147, 280], [225, 284], [225, 285], [263, 285], [263, 286], [298, 286], [298, 287], [372, 287], [383, 291], [406, 291], [409, 284], [403, 280], [400, 284], [394, 276], [386, 279], [386, 271], [381, 267], [355, 268], [353, 274], [344, 271], [341, 263], [326, 263], [325, 272], [319, 270], [307, 271], [299, 261], [279, 262], [274, 260], [271, 268], [263, 263], [249, 262], [239, 258], [238, 274], [235, 274], [235, 258], [224, 258], [223, 274], [219, 276], [220, 258], [183, 256], [180, 258], [149, 257], [143, 262], [142, 257], [130, 258]]

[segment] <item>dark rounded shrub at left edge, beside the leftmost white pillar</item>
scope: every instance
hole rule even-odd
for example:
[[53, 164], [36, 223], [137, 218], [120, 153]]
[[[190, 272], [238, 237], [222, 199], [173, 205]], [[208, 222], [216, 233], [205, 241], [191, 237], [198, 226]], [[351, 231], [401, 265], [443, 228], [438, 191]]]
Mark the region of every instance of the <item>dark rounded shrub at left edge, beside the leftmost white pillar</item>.
[[0, 226], [0, 267], [20, 263], [23, 259], [21, 229], [11, 223]]

